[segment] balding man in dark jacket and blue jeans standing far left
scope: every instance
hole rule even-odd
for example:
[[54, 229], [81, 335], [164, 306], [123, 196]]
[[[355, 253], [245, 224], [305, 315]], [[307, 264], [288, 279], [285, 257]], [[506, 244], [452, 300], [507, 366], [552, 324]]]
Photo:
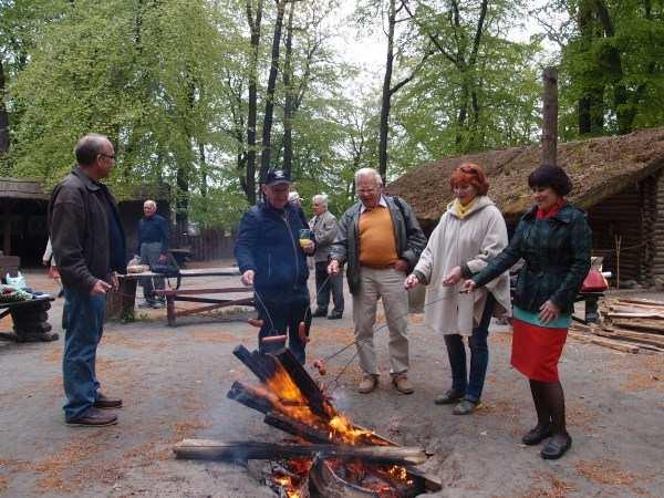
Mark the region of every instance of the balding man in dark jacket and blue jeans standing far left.
[[103, 135], [82, 137], [74, 148], [77, 165], [53, 189], [49, 226], [64, 287], [66, 332], [62, 376], [70, 425], [104, 426], [117, 416], [122, 400], [100, 392], [96, 349], [102, 339], [106, 293], [117, 288], [115, 272], [126, 271], [125, 237], [115, 199], [100, 180], [115, 163], [113, 144]]

